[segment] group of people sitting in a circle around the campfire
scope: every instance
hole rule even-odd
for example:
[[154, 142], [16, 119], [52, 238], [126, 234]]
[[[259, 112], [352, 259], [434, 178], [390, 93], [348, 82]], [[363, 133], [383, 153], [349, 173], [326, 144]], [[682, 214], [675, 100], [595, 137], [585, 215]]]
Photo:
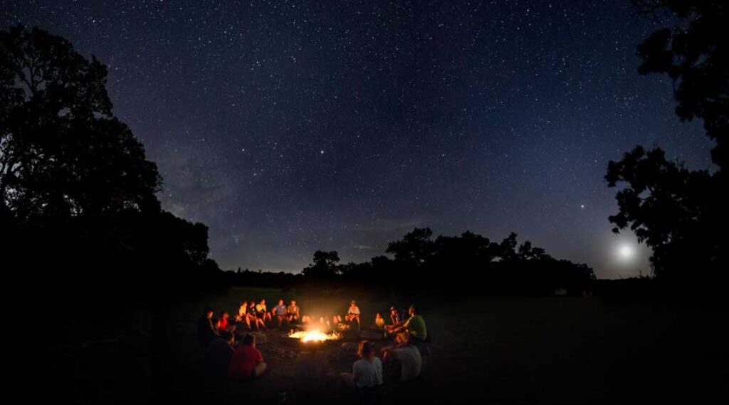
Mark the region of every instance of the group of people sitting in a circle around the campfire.
[[[198, 320], [198, 339], [205, 350], [208, 374], [230, 380], [251, 380], [266, 370], [262, 353], [256, 347], [255, 335], [243, 333], [243, 327], [253, 331], [266, 329], [266, 322], [274, 323], [274, 319], [278, 321], [279, 328], [284, 322], [300, 321], [300, 308], [296, 301], [292, 300], [286, 306], [283, 299], [278, 300], [273, 310], [266, 308], [265, 299], [258, 303], [243, 300], [233, 320], [224, 311], [213, 321], [213, 314], [211, 308], [206, 308]], [[352, 301], [345, 321], [357, 323], [359, 326], [361, 317], [362, 312], [356, 302]], [[302, 318], [301, 321], [306, 320]], [[341, 318], [335, 315], [334, 321], [340, 322]], [[340, 374], [343, 385], [363, 395], [375, 395], [380, 390], [383, 382], [388, 380], [383, 378], [383, 371], [386, 375], [396, 376], [389, 380], [404, 382], [416, 379], [423, 364], [418, 347], [428, 339], [425, 320], [416, 312], [414, 305], [408, 308], [408, 318], [404, 320], [401, 319], [399, 311], [391, 307], [389, 324], [386, 324], [381, 313], [377, 313], [374, 328], [394, 339], [394, 346], [384, 347], [379, 353], [380, 358], [373, 342], [359, 342], [359, 360], [353, 364], [352, 372]], [[236, 345], [236, 340], [241, 341], [241, 344]]]

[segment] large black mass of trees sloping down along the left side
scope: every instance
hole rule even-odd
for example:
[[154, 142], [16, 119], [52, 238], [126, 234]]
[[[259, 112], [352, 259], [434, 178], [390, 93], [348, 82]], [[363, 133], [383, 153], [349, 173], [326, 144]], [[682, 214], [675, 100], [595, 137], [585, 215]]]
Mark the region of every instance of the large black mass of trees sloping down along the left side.
[[[157, 166], [114, 117], [106, 67], [34, 28], [0, 31], [0, 245], [6, 275], [63, 302], [214, 283], [208, 229], [160, 208]], [[50, 298], [50, 296], [49, 296]], [[112, 302], [113, 300], [108, 300]]]

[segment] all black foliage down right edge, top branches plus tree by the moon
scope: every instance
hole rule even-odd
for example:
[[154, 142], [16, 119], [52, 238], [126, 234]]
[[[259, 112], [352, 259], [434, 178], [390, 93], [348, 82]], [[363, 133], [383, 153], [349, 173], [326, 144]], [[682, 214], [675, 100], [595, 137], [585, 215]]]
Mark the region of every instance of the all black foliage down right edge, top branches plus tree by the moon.
[[674, 82], [682, 120], [703, 120], [716, 142], [716, 170], [689, 170], [666, 160], [660, 148], [636, 146], [610, 162], [609, 186], [619, 211], [615, 232], [631, 229], [652, 248], [655, 279], [695, 292], [729, 280], [729, 10], [725, 1], [634, 0], [639, 12], [673, 24], [638, 47], [640, 74], [666, 74]]

